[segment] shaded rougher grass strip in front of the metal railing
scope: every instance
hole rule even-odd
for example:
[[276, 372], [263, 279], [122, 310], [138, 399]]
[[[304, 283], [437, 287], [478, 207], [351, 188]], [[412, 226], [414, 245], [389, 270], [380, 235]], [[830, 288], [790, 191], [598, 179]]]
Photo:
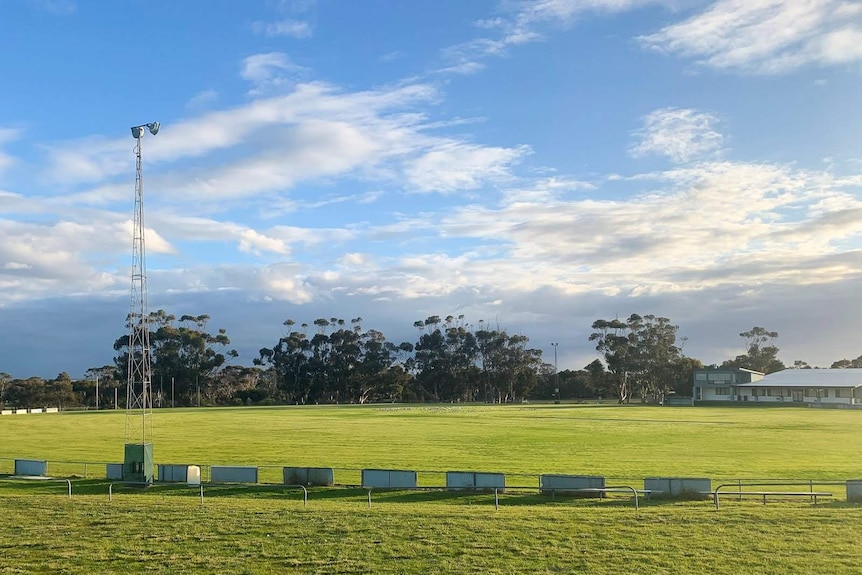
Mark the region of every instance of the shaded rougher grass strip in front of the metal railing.
[[[862, 507], [295, 494], [67, 499], [0, 487], [0, 573], [859, 572]], [[535, 497], [535, 496], [534, 496]], [[387, 498], [389, 498], [387, 500]]]

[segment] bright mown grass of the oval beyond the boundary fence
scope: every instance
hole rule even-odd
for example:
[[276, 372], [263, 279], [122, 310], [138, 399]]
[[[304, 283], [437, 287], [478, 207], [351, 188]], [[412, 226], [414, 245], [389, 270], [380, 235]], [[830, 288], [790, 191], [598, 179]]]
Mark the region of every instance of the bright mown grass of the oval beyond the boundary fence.
[[[167, 409], [154, 421], [157, 463], [580, 473], [628, 481], [862, 477], [862, 459], [852, 456], [862, 452], [862, 412], [849, 410], [321, 406]], [[121, 461], [123, 425], [124, 414], [113, 411], [2, 417], [0, 458]]]

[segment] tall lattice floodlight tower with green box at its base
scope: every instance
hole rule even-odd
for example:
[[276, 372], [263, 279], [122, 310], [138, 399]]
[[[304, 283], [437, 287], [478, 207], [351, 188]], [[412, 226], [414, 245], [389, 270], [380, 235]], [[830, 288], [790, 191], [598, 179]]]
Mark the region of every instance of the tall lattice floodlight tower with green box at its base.
[[144, 241], [144, 177], [141, 140], [144, 128], [159, 133], [159, 123], [132, 127], [135, 138], [135, 216], [132, 226], [132, 290], [129, 311], [129, 363], [126, 385], [126, 436], [123, 479], [153, 482], [153, 396], [150, 367], [150, 326], [147, 309], [147, 263]]

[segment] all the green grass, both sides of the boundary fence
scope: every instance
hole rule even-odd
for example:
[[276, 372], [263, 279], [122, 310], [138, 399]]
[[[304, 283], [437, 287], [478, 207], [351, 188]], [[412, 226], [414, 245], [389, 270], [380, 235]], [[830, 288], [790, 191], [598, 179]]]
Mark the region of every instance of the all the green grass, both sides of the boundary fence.
[[[862, 412], [596, 405], [332, 406], [162, 410], [162, 463], [844, 480], [862, 477]], [[0, 472], [14, 458], [119, 462], [124, 414], [0, 418]], [[91, 475], [103, 474], [104, 468]], [[346, 478], [346, 480], [342, 479]], [[807, 499], [642, 502], [208, 488], [118, 489], [0, 481], [0, 573], [859, 573], [862, 506]]]

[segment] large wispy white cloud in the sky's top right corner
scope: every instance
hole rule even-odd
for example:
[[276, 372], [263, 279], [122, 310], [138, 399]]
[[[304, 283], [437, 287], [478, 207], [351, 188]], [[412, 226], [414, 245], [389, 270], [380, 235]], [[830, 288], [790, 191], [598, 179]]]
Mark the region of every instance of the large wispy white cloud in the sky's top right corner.
[[714, 68], [774, 74], [862, 61], [862, 4], [847, 0], [718, 0], [641, 41]]

